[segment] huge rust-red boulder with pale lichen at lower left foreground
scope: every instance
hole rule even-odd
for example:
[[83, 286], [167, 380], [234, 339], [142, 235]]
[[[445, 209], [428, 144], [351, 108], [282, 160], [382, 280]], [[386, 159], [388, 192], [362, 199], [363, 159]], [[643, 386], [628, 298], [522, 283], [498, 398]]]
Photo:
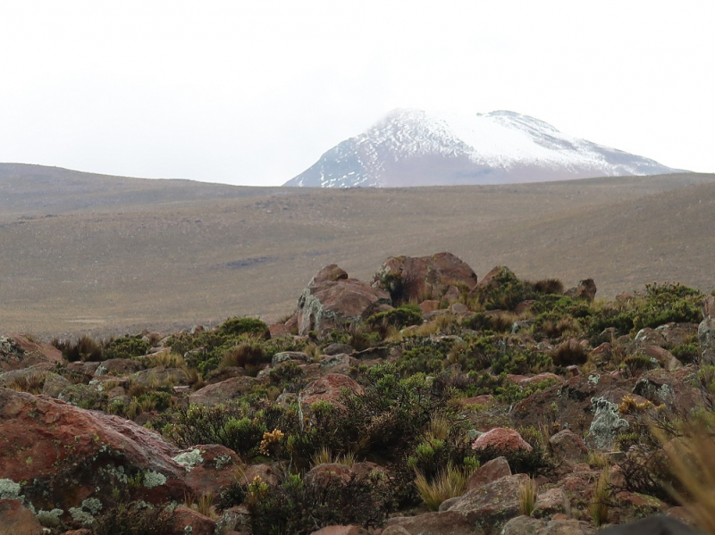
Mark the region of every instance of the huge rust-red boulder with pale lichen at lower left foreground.
[[67, 511], [137, 483], [136, 497], [183, 500], [189, 490], [176, 447], [130, 422], [44, 396], [0, 389], [0, 480], [25, 503]]

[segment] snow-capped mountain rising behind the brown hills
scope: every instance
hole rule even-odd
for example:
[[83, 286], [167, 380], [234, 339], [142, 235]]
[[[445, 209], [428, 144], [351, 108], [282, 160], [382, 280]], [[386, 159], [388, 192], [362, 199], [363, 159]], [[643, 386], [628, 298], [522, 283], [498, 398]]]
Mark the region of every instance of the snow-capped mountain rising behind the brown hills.
[[519, 113], [463, 116], [399, 109], [333, 146], [284, 186], [504, 184], [675, 171]]

